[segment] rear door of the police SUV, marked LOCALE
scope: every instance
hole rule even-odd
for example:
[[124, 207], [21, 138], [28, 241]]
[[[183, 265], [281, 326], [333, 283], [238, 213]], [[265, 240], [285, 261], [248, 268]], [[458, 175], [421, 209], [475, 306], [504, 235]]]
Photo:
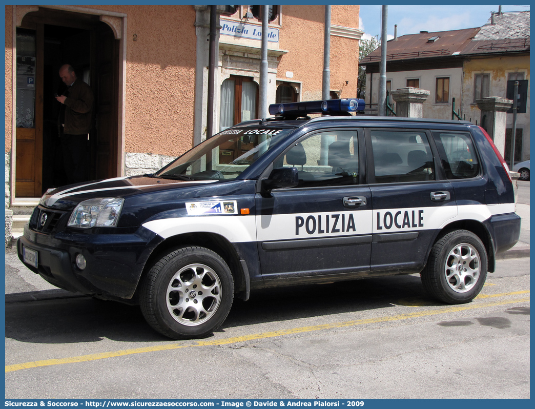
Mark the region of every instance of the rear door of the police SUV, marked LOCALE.
[[366, 130], [366, 143], [371, 271], [418, 272], [438, 230], [457, 215], [453, 186], [429, 131], [375, 128]]

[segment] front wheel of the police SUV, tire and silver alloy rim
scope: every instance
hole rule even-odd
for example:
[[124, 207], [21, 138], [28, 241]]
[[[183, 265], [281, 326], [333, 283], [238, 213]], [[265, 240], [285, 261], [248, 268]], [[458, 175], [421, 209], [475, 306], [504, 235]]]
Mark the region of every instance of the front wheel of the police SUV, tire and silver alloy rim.
[[140, 306], [152, 328], [174, 339], [203, 338], [225, 321], [234, 298], [230, 268], [204, 247], [181, 247], [144, 278]]

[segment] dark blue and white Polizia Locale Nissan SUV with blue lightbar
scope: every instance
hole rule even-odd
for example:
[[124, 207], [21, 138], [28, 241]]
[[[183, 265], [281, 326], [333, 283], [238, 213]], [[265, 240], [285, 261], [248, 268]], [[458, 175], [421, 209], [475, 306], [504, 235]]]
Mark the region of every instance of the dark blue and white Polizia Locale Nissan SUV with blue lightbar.
[[363, 105], [274, 104], [152, 175], [49, 191], [19, 257], [176, 339], [262, 287], [421, 273], [432, 297], [469, 302], [519, 236], [505, 161], [469, 122], [352, 115]]

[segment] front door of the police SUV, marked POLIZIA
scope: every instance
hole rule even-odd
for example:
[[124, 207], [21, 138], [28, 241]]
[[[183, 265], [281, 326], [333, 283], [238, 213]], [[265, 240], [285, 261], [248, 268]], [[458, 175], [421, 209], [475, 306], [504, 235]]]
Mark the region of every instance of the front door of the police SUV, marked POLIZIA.
[[333, 129], [292, 143], [273, 168], [295, 167], [299, 186], [256, 195], [265, 280], [315, 280], [370, 269], [371, 193], [363, 185], [363, 131]]

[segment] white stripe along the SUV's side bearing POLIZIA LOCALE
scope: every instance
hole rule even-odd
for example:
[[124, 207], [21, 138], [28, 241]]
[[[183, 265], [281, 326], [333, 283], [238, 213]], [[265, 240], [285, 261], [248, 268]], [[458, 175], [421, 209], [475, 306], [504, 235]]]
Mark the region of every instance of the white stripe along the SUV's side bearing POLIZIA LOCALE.
[[[514, 203], [353, 210], [264, 216], [184, 216], [143, 224], [163, 238], [190, 232], [220, 234], [231, 243], [439, 230], [457, 220], [485, 221], [514, 213]], [[342, 217], [343, 215], [343, 217]]]

